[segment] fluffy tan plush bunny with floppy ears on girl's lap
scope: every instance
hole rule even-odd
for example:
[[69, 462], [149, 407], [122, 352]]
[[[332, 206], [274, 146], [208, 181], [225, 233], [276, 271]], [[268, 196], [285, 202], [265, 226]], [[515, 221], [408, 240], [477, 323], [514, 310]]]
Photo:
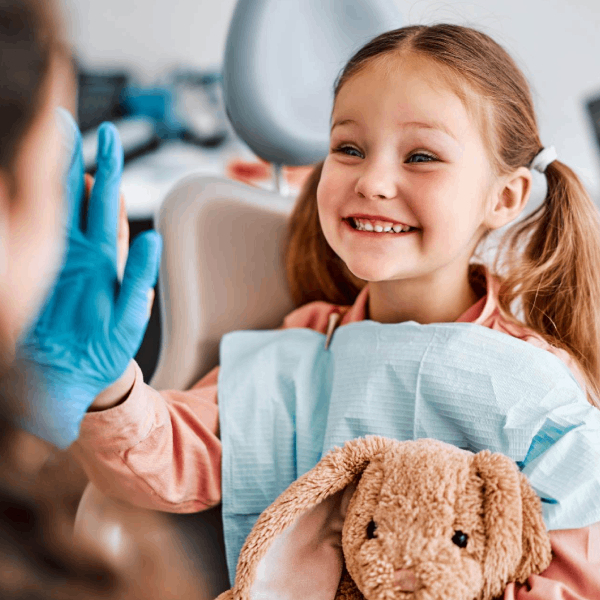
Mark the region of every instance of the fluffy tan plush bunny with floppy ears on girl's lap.
[[218, 600], [491, 600], [550, 560], [541, 502], [511, 459], [369, 436], [262, 513]]

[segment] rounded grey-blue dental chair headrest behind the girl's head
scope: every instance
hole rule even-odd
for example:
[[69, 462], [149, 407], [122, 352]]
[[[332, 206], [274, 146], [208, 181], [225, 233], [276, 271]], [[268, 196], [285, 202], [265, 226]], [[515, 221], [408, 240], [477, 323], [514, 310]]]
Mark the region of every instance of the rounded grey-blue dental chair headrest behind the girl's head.
[[238, 0], [223, 65], [237, 134], [268, 162], [321, 160], [335, 78], [367, 41], [399, 26], [393, 0]]

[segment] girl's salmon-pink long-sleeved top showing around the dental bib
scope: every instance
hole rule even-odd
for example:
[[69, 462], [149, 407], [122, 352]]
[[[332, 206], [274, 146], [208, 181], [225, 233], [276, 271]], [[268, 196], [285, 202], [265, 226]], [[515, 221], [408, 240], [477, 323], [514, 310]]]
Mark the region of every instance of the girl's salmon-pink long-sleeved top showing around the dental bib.
[[[552, 352], [582, 381], [570, 356], [540, 336], [504, 319], [496, 303], [496, 286], [457, 321], [502, 331]], [[326, 333], [329, 315], [341, 325], [366, 318], [368, 286], [352, 306], [312, 302], [289, 314], [284, 328], [307, 327]], [[105, 494], [138, 506], [168, 512], [197, 512], [221, 499], [221, 443], [217, 407], [218, 367], [187, 391], [158, 392], [143, 382], [136, 366], [127, 400], [88, 413], [74, 455]], [[599, 499], [600, 501], [600, 499]], [[600, 600], [600, 523], [550, 533], [554, 558], [540, 576], [523, 586], [511, 584], [504, 600]]]

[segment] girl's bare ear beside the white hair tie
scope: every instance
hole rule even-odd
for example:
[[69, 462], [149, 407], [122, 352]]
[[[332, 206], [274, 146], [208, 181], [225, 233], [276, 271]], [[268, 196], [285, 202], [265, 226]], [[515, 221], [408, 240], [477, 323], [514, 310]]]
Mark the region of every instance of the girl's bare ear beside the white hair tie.
[[486, 218], [489, 229], [499, 229], [521, 214], [529, 200], [531, 180], [531, 171], [527, 167], [519, 167], [499, 179]]

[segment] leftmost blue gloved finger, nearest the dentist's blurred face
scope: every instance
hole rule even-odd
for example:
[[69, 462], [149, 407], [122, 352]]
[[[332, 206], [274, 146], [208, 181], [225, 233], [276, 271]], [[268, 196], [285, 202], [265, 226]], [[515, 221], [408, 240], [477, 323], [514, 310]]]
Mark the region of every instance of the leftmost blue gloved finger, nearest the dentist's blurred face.
[[81, 210], [84, 194], [84, 161], [81, 133], [69, 111], [56, 109], [58, 127], [63, 135], [63, 147], [66, 159], [64, 175], [64, 194], [66, 197], [65, 220], [67, 231], [81, 228]]

